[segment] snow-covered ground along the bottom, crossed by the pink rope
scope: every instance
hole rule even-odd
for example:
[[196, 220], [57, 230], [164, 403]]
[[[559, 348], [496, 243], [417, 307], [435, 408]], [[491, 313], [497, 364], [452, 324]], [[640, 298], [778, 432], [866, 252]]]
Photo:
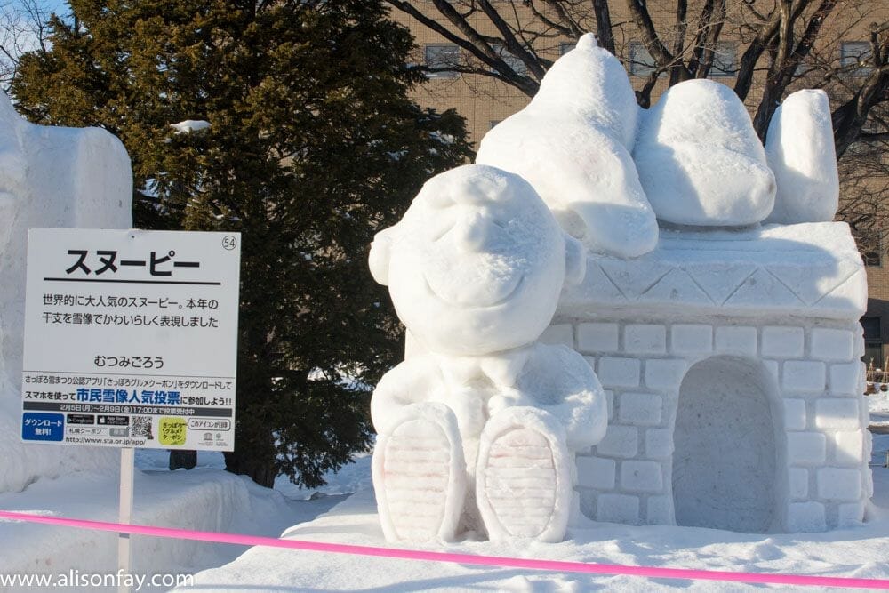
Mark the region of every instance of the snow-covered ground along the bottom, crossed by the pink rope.
[[[885, 462], [886, 450], [889, 435], [875, 435], [875, 463]], [[198, 463], [199, 467], [191, 471], [169, 472], [165, 471], [164, 452], [138, 451], [137, 465], [142, 472], [136, 478], [134, 521], [269, 536], [283, 531], [284, 537], [293, 539], [387, 545], [376, 517], [369, 455], [358, 458], [338, 474], [329, 475], [329, 484], [317, 491], [301, 490], [285, 479], [278, 481], [274, 491], [260, 488], [222, 471], [219, 453], [201, 453]], [[0, 509], [115, 520], [116, 478], [81, 474], [38, 480], [25, 493], [0, 494]], [[868, 523], [830, 533], [762, 535], [664, 525], [589, 523], [573, 528], [569, 533], [572, 540], [559, 544], [467, 541], [429, 549], [609, 564], [889, 579], [889, 469], [875, 467], [874, 484], [874, 504], [869, 509]], [[344, 496], [353, 492], [353, 496]], [[310, 500], [313, 493], [315, 498]], [[116, 567], [116, 539], [108, 533], [0, 523], [0, 541], [15, 542], [15, 546], [4, 546], [0, 573], [60, 573], [68, 567], [84, 573], [113, 572]], [[535, 573], [298, 550], [244, 550], [221, 544], [139, 537], [134, 538], [133, 548], [137, 572], [201, 571], [196, 574], [195, 587], [189, 589], [200, 591], [747, 588], [739, 583]]]

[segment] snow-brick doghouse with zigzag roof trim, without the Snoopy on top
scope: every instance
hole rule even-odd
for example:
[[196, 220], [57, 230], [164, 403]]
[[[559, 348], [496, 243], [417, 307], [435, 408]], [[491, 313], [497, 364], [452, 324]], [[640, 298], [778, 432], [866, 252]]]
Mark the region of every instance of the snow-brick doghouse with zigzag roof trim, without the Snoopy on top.
[[605, 439], [577, 458], [581, 511], [741, 532], [861, 522], [866, 301], [845, 223], [661, 229], [636, 260], [590, 254], [545, 334], [608, 399]]

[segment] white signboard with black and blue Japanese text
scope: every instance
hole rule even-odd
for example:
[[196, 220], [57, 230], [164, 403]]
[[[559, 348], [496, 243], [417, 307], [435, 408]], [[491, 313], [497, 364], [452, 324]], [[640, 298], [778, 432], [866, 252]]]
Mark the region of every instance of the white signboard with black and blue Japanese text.
[[234, 450], [240, 243], [32, 228], [22, 439]]

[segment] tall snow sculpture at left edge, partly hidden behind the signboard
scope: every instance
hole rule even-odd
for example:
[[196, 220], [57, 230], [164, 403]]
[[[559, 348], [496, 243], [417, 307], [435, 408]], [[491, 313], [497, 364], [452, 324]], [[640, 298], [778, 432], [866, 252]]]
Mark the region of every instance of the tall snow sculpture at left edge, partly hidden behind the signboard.
[[98, 128], [29, 124], [0, 93], [0, 493], [36, 477], [113, 462], [108, 451], [20, 442], [28, 228], [130, 228], [124, 146]]

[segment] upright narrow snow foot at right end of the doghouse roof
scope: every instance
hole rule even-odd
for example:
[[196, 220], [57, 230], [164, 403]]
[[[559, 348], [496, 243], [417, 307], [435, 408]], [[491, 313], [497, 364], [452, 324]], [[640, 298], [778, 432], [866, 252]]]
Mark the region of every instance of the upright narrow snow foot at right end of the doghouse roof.
[[839, 177], [827, 93], [805, 90], [789, 95], [772, 116], [765, 152], [778, 182], [774, 210], [766, 221], [833, 220]]

